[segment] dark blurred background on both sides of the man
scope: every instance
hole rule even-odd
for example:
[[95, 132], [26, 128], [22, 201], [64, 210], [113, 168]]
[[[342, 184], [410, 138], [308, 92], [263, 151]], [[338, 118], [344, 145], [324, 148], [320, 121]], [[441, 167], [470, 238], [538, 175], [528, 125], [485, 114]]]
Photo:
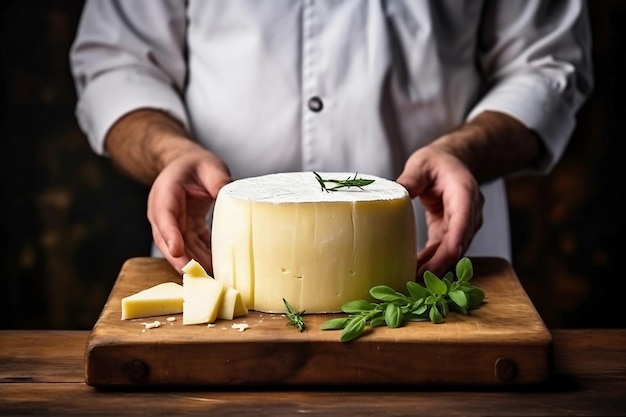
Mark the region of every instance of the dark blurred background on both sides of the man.
[[[89, 148], [68, 68], [82, 1], [3, 1], [0, 328], [90, 329], [127, 258], [146, 256], [147, 189]], [[546, 177], [508, 181], [513, 266], [550, 328], [626, 327], [626, 1], [589, 2], [596, 87]]]

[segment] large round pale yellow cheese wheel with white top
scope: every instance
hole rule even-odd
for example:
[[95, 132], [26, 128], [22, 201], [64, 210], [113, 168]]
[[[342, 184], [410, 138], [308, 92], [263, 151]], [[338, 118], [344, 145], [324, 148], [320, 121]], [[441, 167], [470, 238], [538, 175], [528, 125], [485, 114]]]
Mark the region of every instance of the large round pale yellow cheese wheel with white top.
[[325, 191], [313, 172], [289, 172], [224, 186], [213, 214], [215, 279], [239, 290], [248, 309], [271, 313], [285, 311], [283, 298], [324, 313], [371, 299], [375, 285], [404, 292], [416, 272], [411, 199], [396, 182], [358, 178], [374, 182]]

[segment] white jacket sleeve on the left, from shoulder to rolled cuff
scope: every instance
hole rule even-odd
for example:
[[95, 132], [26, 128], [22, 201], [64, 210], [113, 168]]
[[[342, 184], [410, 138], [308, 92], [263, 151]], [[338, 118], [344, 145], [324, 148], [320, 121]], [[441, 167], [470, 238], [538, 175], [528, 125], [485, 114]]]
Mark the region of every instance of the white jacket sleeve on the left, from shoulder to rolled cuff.
[[184, 0], [87, 0], [70, 67], [76, 117], [93, 150], [123, 115], [140, 108], [188, 125], [181, 95], [186, 79]]

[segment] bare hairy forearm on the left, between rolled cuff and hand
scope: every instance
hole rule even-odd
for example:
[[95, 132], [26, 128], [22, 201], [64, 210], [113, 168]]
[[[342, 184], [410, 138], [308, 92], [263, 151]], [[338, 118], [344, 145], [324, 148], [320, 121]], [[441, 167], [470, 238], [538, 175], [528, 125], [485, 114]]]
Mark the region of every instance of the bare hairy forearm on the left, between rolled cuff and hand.
[[122, 172], [147, 185], [169, 162], [200, 149], [174, 118], [151, 109], [120, 118], [109, 130], [105, 147]]

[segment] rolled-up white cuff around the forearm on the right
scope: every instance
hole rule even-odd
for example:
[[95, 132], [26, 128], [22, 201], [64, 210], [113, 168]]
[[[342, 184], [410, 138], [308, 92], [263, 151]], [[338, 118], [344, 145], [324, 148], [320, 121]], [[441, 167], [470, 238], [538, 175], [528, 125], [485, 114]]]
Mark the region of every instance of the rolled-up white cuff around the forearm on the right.
[[472, 109], [468, 120], [483, 111], [505, 113], [539, 135], [546, 155], [528, 168], [528, 173], [550, 172], [563, 155], [576, 125], [559, 88], [537, 74], [517, 76], [496, 85]]

